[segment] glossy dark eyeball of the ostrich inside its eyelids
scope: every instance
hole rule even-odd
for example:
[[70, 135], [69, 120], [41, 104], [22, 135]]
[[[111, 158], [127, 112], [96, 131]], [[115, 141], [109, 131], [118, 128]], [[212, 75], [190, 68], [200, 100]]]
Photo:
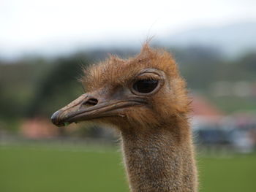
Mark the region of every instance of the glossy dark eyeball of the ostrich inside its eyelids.
[[140, 93], [150, 93], [157, 88], [158, 80], [138, 80], [133, 84], [135, 91]]

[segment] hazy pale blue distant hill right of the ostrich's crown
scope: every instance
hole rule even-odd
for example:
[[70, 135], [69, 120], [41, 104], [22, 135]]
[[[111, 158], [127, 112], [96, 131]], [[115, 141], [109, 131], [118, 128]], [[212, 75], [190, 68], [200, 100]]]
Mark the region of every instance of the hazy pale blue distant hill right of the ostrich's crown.
[[238, 56], [256, 51], [256, 23], [192, 28], [163, 37], [159, 43], [168, 47], [215, 47], [225, 55]]

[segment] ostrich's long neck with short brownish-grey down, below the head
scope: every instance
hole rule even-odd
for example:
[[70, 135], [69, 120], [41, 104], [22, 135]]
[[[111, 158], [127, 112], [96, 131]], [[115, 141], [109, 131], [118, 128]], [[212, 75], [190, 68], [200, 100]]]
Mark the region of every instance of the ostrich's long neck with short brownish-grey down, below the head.
[[132, 192], [197, 191], [189, 126], [129, 128], [121, 141]]

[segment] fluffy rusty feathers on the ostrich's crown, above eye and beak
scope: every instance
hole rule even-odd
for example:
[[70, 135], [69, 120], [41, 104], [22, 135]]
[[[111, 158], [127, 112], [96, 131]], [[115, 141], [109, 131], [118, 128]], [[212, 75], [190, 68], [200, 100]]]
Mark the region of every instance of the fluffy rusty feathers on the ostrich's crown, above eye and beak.
[[84, 69], [85, 75], [81, 81], [88, 91], [100, 88], [105, 83], [124, 85], [145, 68], [162, 70], [168, 74], [168, 77], [178, 76], [178, 69], [172, 55], [165, 50], [153, 49], [146, 43], [135, 58], [124, 60], [116, 55], [110, 55], [105, 61]]

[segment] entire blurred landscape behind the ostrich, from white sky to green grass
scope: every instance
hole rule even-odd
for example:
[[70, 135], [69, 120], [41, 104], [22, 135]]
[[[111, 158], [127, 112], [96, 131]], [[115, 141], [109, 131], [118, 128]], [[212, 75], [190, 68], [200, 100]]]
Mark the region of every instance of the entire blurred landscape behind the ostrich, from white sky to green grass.
[[256, 1], [0, 1], [0, 191], [128, 191], [110, 128], [57, 128], [82, 66], [173, 53], [193, 97], [200, 191], [256, 190]]

